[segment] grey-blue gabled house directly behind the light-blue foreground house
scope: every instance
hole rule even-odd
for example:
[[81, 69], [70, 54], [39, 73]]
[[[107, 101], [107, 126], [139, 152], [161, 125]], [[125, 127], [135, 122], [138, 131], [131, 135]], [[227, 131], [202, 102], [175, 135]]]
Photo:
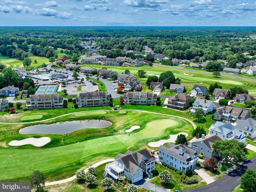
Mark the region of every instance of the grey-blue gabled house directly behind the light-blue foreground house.
[[212, 148], [212, 144], [215, 141], [221, 141], [217, 135], [204, 135], [202, 134], [202, 138], [199, 138], [194, 141], [188, 141], [187, 146], [195, 150], [198, 154], [203, 155], [205, 158], [216, 157], [218, 154], [214, 152], [214, 148]]

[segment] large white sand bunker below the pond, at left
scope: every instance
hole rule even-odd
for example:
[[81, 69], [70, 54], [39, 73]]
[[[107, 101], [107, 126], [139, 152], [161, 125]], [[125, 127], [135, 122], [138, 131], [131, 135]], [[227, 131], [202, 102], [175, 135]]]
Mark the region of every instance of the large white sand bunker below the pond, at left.
[[41, 147], [50, 141], [51, 141], [50, 137], [27, 138], [27, 139], [23, 139], [23, 140], [13, 140], [9, 143], [9, 145], [21, 146], [21, 145], [26, 145], [26, 144], [32, 144], [36, 147]]

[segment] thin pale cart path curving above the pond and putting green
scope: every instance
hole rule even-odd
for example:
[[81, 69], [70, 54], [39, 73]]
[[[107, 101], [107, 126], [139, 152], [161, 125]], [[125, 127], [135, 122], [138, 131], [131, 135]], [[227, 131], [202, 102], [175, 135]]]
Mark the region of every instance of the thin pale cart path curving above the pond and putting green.
[[[50, 119], [45, 119], [45, 120], [40, 120], [40, 121], [32, 121], [32, 122], [20, 122], [20, 123], [8, 123], [8, 122], [0, 122], [0, 124], [31, 124], [31, 123], [41, 123], [41, 122], [45, 122], [48, 120], [53, 120], [53, 119], [57, 119], [60, 117], [64, 117], [67, 115], [72, 115], [72, 114], [76, 114], [76, 113], [84, 113], [84, 112], [95, 112], [95, 111], [113, 111], [113, 110], [91, 110], [91, 111], [80, 111], [80, 112], [73, 112], [73, 113], [67, 113], [67, 114], [63, 114], [60, 116], [56, 116]], [[156, 113], [156, 112], [150, 112], [150, 111], [144, 111], [144, 110], [136, 110], [136, 109], [128, 109], [128, 110], [118, 110], [118, 111], [139, 111], [139, 112], [145, 112], [145, 113], [151, 113], [151, 114], [157, 114], [157, 115], [164, 115], [164, 116], [171, 116], [171, 117], [177, 117], [177, 118], [181, 118], [184, 119], [188, 122], [190, 122], [192, 124], [192, 126], [194, 127], [194, 129], [196, 129], [196, 124], [194, 124], [194, 122], [192, 122], [191, 120], [184, 118], [184, 117], [180, 117], [180, 116], [176, 116], [176, 115], [169, 115], [169, 114], [162, 114], [162, 113]]]

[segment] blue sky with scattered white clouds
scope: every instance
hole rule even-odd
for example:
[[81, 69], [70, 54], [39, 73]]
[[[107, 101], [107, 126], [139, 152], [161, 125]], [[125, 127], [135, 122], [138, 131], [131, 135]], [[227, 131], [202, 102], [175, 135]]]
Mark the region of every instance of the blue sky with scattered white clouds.
[[0, 0], [0, 26], [256, 26], [256, 0]]

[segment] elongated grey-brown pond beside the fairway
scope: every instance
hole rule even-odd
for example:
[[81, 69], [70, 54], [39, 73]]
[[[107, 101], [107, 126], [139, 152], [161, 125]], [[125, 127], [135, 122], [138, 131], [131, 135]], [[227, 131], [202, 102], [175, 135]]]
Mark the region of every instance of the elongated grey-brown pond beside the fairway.
[[54, 124], [39, 124], [20, 129], [20, 134], [67, 134], [86, 128], [106, 128], [112, 122], [106, 120], [65, 121]]

